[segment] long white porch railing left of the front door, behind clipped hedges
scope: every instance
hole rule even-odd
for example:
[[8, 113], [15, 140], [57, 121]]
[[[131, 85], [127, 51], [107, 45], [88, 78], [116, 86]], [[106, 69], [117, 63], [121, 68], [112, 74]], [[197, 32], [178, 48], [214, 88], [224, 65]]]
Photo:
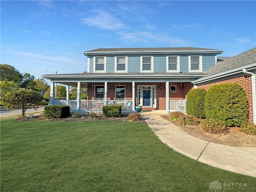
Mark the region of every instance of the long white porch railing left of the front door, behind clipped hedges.
[[[132, 100], [108, 100], [108, 105], [121, 105], [122, 112], [132, 111]], [[76, 100], [53, 100], [53, 105], [68, 105], [70, 112], [76, 112]], [[104, 100], [80, 100], [80, 112], [102, 112]]]

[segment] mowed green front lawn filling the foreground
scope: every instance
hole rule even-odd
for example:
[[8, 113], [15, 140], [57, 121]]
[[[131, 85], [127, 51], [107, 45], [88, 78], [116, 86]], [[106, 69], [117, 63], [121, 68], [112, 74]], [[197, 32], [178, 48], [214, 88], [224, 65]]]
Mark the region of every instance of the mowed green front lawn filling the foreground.
[[253, 177], [175, 152], [146, 123], [0, 122], [1, 192], [213, 192], [212, 181], [256, 188]]

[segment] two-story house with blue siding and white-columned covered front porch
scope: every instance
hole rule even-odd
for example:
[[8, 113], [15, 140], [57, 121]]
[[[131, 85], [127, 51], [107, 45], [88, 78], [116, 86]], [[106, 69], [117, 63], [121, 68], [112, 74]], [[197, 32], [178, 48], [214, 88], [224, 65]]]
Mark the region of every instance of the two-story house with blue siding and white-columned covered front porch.
[[[51, 80], [50, 104], [66, 104], [73, 112], [101, 112], [104, 105], [120, 104], [123, 112], [185, 111], [191, 82], [217, 63], [223, 50], [205, 48], [103, 48], [84, 52], [87, 73], [43, 75]], [[82, 70], [82, 69], [81, 69]], [[83, 70], [82, 70], [83, 71]], [[54, 100], [54, 83], [67, 86], [67, 99]], [[78, 88], [69, 100], [69, 86]], [[80, 88], [87, 100], [80, 100]]]

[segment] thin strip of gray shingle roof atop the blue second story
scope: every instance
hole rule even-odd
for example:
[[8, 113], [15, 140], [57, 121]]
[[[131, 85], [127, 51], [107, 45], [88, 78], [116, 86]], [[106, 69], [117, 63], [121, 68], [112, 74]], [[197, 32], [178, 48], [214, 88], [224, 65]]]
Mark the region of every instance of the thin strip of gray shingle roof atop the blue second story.
[[86, 52], [158, 52], [158, 51], [220, 51], [195, 47], [169, 47], [169, 48], [100, 48]]

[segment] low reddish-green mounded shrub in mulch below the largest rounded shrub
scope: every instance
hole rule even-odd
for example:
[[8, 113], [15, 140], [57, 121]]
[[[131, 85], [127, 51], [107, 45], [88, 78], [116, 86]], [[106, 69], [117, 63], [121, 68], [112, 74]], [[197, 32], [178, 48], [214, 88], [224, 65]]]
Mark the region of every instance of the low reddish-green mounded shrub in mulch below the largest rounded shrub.
[[206, 118], [201, 121], [200, 127], [211, 134], [220, 134], [220, 133], [226, 133], [227, 128], [225, 126], [225, 123], [211, 118]]

